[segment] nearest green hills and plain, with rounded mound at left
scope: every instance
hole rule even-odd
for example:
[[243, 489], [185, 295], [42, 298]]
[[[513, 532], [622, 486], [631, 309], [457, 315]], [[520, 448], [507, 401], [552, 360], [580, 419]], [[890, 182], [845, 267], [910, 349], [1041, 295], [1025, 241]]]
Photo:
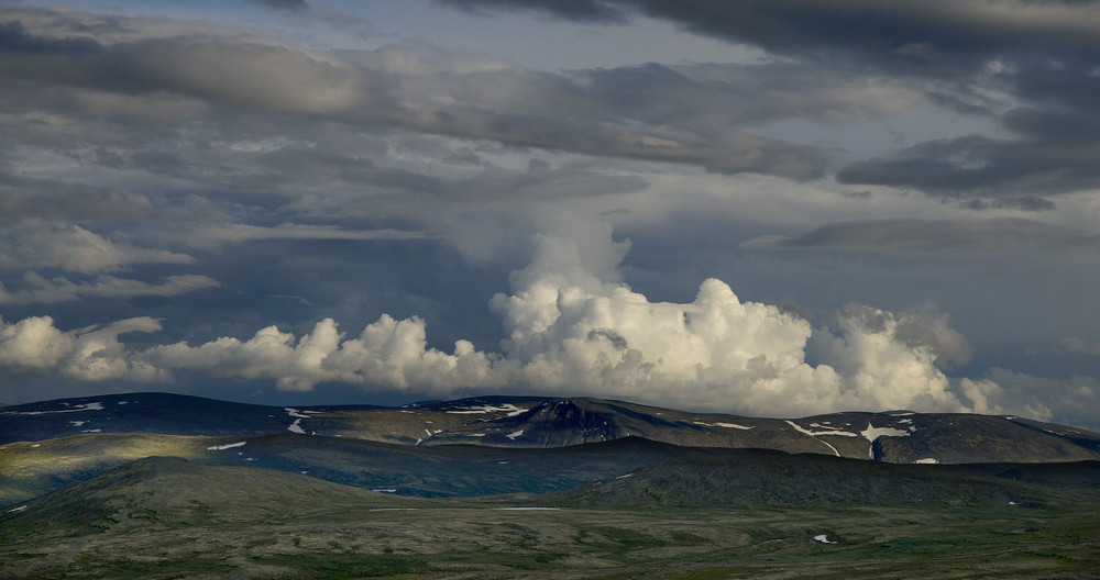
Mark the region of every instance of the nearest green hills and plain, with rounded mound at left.
[[[552, 450], [583, 464], [624, 443], [659, 445]], [[574, 491], [451, 500], [147, 457], [0, 512], [0, 577], [1085, 578], [1100, 565], [1100, 464], [1021, 482], [1010, 472], [1028, 466], [679, 449]]]

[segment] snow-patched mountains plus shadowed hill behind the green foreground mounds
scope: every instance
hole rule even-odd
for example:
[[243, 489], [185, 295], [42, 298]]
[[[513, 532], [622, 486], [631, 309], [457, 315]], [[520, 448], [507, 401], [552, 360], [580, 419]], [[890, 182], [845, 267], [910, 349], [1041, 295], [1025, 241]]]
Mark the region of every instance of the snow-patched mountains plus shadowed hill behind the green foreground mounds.
[[703, 449], [859, 464], [1048, 464], [1100, 458], [1100, 434], [1013, 416], [893, 411], [781, 420], [586, 398], [282, 408], [111, 394], [0, 410], [0, 504], [150, 456], [273, 468], [402, 495], [472, 497], [570, 490]]

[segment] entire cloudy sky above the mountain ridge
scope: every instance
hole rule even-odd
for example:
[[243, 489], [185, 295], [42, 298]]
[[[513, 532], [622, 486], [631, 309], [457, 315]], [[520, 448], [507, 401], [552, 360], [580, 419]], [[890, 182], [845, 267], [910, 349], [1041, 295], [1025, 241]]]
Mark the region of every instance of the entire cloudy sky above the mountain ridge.
[[0, 402], [1100, 428], [1100, 2], [0, 1]]

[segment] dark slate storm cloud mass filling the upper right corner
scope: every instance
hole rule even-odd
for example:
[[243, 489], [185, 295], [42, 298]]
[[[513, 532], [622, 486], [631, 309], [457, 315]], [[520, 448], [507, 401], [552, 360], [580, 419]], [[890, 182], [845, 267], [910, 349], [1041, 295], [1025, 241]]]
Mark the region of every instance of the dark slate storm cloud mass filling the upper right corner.
[[[549, 0], [461, 3], [554, 12]], [[828, 69], [910, 79], [968, 113], [999, 118], [1005, 105], [1021, 105], [1003, 119], [1010, 137], [920, 144], [855, 163], [840, 171], [843, 182], [1026, 199], [1100, 183], [1096, 152], [1079, 138], [1094, 141], [1100, 118], [1098, 2], [608, 0], [570, 18], [597, 8], [666, 19]]]

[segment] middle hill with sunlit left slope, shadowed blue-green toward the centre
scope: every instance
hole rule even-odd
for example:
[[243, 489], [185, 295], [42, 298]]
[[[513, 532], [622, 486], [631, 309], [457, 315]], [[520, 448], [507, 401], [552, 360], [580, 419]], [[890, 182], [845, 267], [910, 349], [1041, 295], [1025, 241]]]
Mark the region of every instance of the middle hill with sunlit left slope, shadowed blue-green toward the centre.
[[397, 495], [443, 498], [568, 490], [684, 450], [639, 437], [538, 448], [414, 446], [295, 433], [240, 438], [96, 433], [0, 446], [0, 505], [158, 455], [209, 466], [277, 469]]

